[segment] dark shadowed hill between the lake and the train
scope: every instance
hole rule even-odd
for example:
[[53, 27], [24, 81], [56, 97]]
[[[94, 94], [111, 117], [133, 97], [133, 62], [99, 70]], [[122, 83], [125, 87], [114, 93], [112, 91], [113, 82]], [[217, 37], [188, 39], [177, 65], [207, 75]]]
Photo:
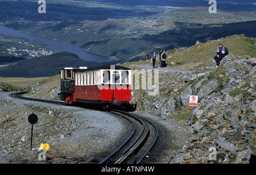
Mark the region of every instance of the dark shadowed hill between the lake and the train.
[[64, 67], [87, 66], [92, 67], [98, 62], [88, 62], [76, 54], [61, 52], [49, 56], [41, 56], [18, 61], [0, 67], [2, 77], [48, 77], [58, 75]]

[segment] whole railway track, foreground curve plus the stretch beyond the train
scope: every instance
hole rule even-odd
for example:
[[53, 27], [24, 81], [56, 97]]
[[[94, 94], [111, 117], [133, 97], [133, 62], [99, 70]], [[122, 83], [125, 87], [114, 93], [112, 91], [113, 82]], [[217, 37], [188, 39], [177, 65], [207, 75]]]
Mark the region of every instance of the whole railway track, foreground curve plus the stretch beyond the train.
[[[63, 101], [24, 97], [22, 96], [24, 93], [27, 92], [13, 93], [11, 94], [11, 96], [23, 100], [65, 105]], [[158, 128], [156, 127], [156, 125], [154, 125], [154, 123], [148, 121], [147, 119], [136, 116], [129, 112], [112, 110], [110, 111], [110, 113], [117, 114], [118, 116], [127, 119], [131, 123], [131, 125], [133, 125], [133, 132], [130, 134], [129, 138], [127, 138], [125, 142], [121, 144], [121, 146], [119, 146], [108, 156], [103, 159], [92, 159], [92, 162], [98, 164], [142, 163], [143, 159], [148, 155], [148, 153], [151, 151], [151, 148], [154, 146], [156, 140], [158, 139]], [[80, 159], [77, 157], [77, 160], [78, 161], [76, 161], [76, 163], [85, 162], [84, 159], [81, 159], [81, 157]]]

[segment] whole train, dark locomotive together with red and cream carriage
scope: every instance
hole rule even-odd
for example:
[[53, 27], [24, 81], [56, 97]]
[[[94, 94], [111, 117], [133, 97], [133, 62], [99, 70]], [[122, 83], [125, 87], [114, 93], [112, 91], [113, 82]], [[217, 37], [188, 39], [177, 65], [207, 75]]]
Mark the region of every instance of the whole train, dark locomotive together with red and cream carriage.
[[59, 70], [60, 100], [102, 109], [135, 109], [131, 70], [124, 66], [65, 67]]

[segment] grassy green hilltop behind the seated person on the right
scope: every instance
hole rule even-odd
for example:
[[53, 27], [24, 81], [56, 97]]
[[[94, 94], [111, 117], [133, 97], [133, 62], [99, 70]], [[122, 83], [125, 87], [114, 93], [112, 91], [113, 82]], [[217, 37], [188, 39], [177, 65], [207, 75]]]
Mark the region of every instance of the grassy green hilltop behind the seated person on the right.
[[[222, 42], [229, 53], [236, 57], [248, 56], [249, 58], [256, 57], [256, 39], [245, 37], [245, 35], [228, 36], [225, 39], [209, 40], [205, 43], [198, 42], [190, 48], [181, 48], [170, 50], [167, 63], [175, 62], [176, 65], [200, 66], [209, 65], [216, 56], [218, 44]], [[189, 68], [189, 67], [188, 67]]]

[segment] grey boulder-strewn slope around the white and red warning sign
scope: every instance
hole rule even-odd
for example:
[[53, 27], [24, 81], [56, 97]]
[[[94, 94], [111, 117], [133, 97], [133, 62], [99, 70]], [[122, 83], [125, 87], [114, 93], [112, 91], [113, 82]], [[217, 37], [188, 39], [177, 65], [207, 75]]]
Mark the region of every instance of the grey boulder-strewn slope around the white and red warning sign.
[[192, 117], [189, 96], [199, 96], [191, 138], [170, 163], [249, 163], [256, 155], [255, 63], [255, 58], [230, 53], [217, 69], [212, 63], [192, 73], [159, 71], [156, 96], [134, 92], [138, 111], [187, 125]]

